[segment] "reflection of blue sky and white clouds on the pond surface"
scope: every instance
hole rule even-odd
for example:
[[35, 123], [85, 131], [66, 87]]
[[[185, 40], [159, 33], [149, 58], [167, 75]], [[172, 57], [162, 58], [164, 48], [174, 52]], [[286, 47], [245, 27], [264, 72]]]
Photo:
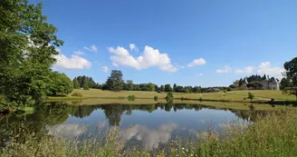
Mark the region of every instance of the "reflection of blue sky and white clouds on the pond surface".
[[[152, 113], [134, 110], [129, 115], [125, 112], [121, 115], [120, 138], [125, 142], [138, 141], [143, 148], [150, 150], [158, 148], [159, 143], [166, 143], [175, 136], [187, 138], [192, 135], [196, 137], [196, 133], [199, 131], [206, 131], [209, 128], [219, 131], [221, 123], [237, 120], [239, 118], [235, 113], [225, 110], [182, 109], [174, 112], [172, 109], [170, 112], [166, 112], [158, 108]], [[56, 131], [50, 130], [50, 132], [60, 132], [59, 135], [65, 137], [79, 136], [82, 133], [94, 132], [97, 128], [96, 125], [103, 122], [109, 122], [104, 111], [95, 110], [84, 118], [70, 115], [64, 123], [53, 127]], [[87, 131], [79, 127], [83, 125], [88, 125]], [[66, 129], [62, 129], [62, 127], [66, 127]]]

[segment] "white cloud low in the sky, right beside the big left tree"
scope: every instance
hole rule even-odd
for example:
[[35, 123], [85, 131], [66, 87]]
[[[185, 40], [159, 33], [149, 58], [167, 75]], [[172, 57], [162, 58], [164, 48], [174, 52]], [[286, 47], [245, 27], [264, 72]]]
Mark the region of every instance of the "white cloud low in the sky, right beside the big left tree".
[[82, 58], [79, 55], [72, 54], [71, 58], [68, 58], [64, 54], [55, 55], [54, 58], [57, 63], [53, 65], [56, 69], [88, 69], [91, 68], [91, 62]]

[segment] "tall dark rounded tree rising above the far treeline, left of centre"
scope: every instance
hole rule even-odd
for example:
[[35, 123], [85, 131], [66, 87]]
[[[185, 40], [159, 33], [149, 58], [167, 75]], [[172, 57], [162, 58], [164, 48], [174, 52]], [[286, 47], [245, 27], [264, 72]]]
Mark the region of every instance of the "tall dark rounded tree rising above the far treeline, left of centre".
[[123, 89], [123, 74], [119, 70], [112, 70], [106, 81], [107, 88], [113, 92], [120, 92]]

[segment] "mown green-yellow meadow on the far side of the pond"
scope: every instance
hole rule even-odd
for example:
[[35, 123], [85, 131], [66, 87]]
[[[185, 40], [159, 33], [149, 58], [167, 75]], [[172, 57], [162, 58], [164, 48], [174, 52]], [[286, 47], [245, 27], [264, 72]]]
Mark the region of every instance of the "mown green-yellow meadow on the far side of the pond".
[[[119, 93], [114, 93], [110, 91], [102, 91], [98, 89], [81, 90], [75, 89], [73, 92], [79, 92], [82, 94], [82, 98], [127, 98], [129, 95], [135, 95], [137, 99], [153, 99], [155, 95], [159, 99], [166, 97], [167, 93], [157, 93], [157, 92], [143, 92], [143, 91], [122, 91]], [[189, 98], [189, 99], [209, 99], [209, 100], [224, 100], [224, 101], [240, 101], [249, 102], [245, 99], [247, 93], [254, 93], [254, 101], [269, 101], [271, 98], [280, 101], [295, 101], [294, 96], [284, 95], [281, 91], [269, 91], [269, 90], [259, 90], [259, 91], [231, 91], [226, 94], [223, 92], [219, 93], [174, 93], [174, 98]], [[49, 97], [49, 100], [59, 100], [59, 99], [75, 99], [78, 97], [72, 97], [71, 94], [65, 97]], [[81, 98], [79, 98], [81, 99]]]

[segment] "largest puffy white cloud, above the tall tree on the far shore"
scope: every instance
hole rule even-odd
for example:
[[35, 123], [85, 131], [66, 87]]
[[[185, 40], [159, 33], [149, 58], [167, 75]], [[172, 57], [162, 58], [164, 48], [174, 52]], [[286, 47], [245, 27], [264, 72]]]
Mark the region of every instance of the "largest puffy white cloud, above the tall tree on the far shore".
[[127, 49], [120, 46], [116, 49], [109, 47], [109, 52], [114, 54], [110, 56], [110, 60], [114, 66], [124, 65], [138, 70], [158, 66], [162, 71], [176, 72], [178, 70], [176, 66], [170, 63], [168, 54], [161, 54], [158, 49], [154, 49], [148, 45], [145, 46], [143, 54], [137, 58], [129, 54]]

